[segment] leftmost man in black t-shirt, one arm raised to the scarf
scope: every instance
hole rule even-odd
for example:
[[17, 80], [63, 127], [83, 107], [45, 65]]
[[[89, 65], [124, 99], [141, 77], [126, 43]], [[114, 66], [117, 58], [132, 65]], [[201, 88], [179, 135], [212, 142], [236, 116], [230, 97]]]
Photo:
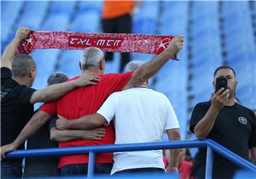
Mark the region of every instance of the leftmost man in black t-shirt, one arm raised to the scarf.
[[[39, 91], [30, 88], [36, 78], [36, 64], [33, 58], [27, 54], [14, 57], [18, 44], [30, 33], [28, 28], [19, 28], [1, 59], [1, 152], [6, 151], [2, 146], [14, 142], [33, 116], [33, 103], [56, 100], [73, 88], [92, 84], [92, 80], [99, 79], [90, 74]], [[37, 121], [41, 122], [40, 119]], [[12, 143], [10, 146], [23, 149], [23, 145], [16, 147], [16, 144]], [[1, 160], [2, 157], [4, 156], [1, 156]], [[21, 163], [22, 158], [1, 161], [1, 178], [21, 178]]]

